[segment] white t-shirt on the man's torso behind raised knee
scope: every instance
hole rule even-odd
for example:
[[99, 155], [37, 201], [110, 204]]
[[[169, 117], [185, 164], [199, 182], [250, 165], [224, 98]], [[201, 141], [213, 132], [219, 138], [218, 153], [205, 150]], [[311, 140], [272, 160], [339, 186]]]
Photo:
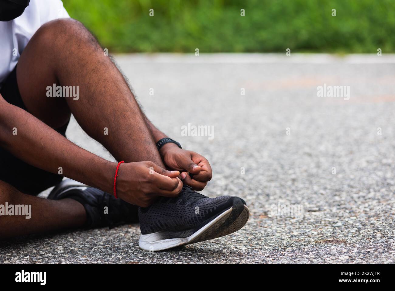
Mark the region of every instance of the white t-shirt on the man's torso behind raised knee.
[[38, 28], [48, 21], [66, 17], [70, 16], [61, 0], [30, 0], [21, 16], [0, 21], [0, 86]]

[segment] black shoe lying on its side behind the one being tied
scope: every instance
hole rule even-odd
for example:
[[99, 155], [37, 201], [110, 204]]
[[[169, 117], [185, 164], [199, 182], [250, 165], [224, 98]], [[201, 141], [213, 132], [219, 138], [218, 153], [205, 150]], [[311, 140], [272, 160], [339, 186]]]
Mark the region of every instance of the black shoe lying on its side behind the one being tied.
[[[49, 193], [48, 199], [71, 198], [80, 202], [87, 212], [85, 227], [116, 227], [139, 221], [138, 206], [99, 189], [89, 187], [74, 180], [63, 180]], [[108, 207], [105, 209], [105, 207]], [[106, 210], [106, 211], [105, 211]]]

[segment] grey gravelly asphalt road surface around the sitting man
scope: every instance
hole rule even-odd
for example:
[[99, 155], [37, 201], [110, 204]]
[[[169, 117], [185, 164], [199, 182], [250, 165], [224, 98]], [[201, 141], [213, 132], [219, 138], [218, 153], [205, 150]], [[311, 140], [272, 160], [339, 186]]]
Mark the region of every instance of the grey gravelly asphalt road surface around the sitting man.
[[[0, 263], [395, 263], [394, 56], [116, 60], [152, 122], [211, 162], [202, 193], [244, 198], [250, 220], [157, 253], [139, 249], [138, 225], [29, 236], [1, 242]], [[318, 97], [324, 83], [350, 86], [350, 99]], [[181, 136], [188, 123], [213, 126], [214, 138]], [[112, 159], [74, 120], [67, 134]], [[291, 204], [303, 212], [273, 211]]]

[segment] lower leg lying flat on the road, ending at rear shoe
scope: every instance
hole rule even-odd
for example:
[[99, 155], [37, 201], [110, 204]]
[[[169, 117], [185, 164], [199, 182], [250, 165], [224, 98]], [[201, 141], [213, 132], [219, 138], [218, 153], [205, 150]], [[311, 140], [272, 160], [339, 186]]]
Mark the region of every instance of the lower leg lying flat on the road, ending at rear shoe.
[[48, 200], [26, 195], [0, 181], [0, 205], [31, 205], [31, 217], [0, 215], [0, 238], [81, 227], [86, 221], [84, 206], [73, 199]]

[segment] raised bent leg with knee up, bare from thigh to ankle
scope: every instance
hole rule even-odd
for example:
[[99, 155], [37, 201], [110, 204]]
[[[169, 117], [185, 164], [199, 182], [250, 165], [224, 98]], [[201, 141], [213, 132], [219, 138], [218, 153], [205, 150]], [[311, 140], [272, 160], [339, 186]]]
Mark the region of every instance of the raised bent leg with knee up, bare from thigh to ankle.
[[[78, 21], [59, 19], [41, 26], [19, 59], [17, 80], [28, 111], [51, 127], [66, 123], [71, 112], [118, 161], [152, 161], [164, 167], [128, 84]], [[47, 86], [54, 83], [78, 86], [78, 100], [47, 97]]]

